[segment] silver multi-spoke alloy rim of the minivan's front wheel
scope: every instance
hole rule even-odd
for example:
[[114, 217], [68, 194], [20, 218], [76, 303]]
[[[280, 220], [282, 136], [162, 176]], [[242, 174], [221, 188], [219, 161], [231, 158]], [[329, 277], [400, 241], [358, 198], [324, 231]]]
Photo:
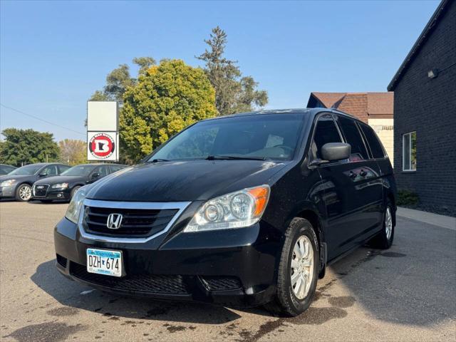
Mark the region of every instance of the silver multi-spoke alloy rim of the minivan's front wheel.
[[290, 274], [294, 295], [299, 300], [306, 298], [314, 277], [314, 247], [306, 235], [299, 237], [294, 244]]

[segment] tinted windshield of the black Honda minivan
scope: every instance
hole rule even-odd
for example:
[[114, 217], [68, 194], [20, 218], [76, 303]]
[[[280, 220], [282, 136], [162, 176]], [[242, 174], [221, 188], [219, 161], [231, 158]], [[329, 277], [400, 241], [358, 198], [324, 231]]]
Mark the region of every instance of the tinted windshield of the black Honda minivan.
[[290, 160], [296, 150], [303, 122], [303, 115], [294, 113], [203, 121], [169, 140], [149, 161], [222, 159], [224, 156]]

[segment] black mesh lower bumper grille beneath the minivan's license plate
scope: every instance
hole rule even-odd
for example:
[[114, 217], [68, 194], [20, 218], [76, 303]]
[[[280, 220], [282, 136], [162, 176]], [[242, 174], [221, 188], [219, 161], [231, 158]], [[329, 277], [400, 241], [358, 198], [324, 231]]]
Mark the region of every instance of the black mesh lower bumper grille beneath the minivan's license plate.
[[154, 274], [127, 274], [123, 277], [88, 273], [86, 266], [71, 262], [70, 274], [83, 281], [105, 286], [113, 290], [135, 291], [144, 294], [188, 294], [182, 276]]

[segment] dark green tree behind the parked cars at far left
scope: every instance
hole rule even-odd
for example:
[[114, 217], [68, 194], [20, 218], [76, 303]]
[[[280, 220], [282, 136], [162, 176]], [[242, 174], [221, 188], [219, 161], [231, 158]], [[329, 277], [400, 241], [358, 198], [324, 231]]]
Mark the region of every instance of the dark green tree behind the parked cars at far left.
[[1, 134], [5, 137], [0, 145], [1, 164], [21, 166], [58, 160], [58, 145], [52, 133], [6, 128]]

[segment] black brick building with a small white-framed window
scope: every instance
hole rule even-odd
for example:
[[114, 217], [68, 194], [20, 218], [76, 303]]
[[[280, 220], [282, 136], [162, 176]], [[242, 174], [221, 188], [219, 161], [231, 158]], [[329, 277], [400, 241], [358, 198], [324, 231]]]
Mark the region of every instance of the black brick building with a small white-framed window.
[[440, 2], [393, 77], [399, 190], [456, 214], [456, 1]]

